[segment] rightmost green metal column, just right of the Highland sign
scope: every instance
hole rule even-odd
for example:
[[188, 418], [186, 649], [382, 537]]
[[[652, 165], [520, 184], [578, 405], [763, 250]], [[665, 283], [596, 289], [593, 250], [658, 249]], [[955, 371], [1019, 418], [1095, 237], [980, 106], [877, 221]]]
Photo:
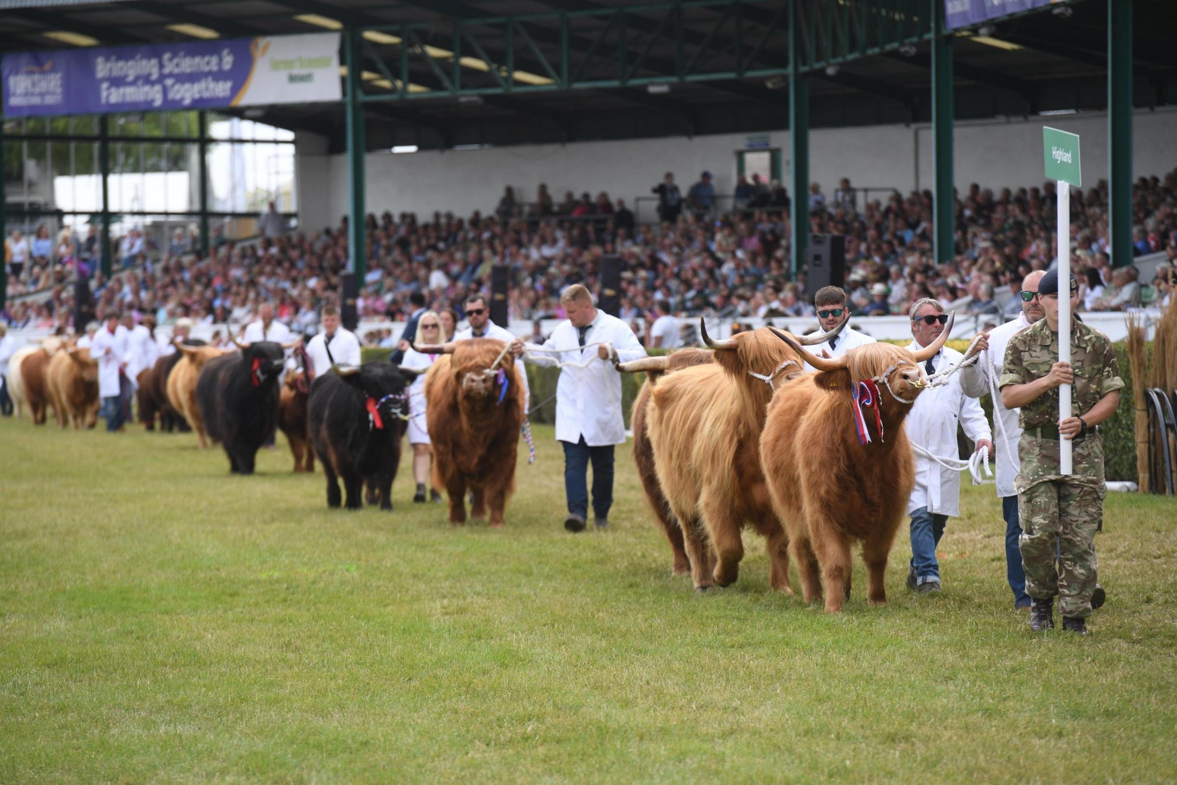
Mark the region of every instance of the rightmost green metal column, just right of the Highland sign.
[[1132, 264], [1132, 4], [1108, 0], [1108, 172], [1111, 264]]

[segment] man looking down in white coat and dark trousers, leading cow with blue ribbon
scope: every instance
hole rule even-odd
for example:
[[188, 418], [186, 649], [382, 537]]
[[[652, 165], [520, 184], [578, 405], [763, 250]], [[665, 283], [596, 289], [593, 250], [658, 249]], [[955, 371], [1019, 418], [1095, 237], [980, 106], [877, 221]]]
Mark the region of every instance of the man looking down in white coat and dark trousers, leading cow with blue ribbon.
[[[537, 365], [566, 364], [556, 387], [556, 438], [564, 447], [568, 507], [564, 527], [570, 532], [585, 530], [591, 461], [594, 523], [598, 528], [607, 528], [613, 505], [613, 447], [625, 444], [621, 374], [614, 361], [637, 360], [646, 355], [646, 350], [624, 321], [597, 310], [592, 294], [580, 284], [564, 291], [560, 305], [568, 318], [557, 325], [541, 347], [558, 352], [528, 353], [527, 359]], [[523, 350], [523, 341], [517, 340], [516, 348]]]

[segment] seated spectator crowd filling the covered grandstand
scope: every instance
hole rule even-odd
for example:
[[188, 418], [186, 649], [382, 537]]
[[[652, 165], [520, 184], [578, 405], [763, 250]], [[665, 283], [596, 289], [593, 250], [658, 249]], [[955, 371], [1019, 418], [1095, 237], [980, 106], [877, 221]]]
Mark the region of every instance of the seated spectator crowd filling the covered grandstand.
[[[790, 197], [780, 184], [742, 177], [732, 209], [723, 214], [706, 172], [686, 195], [672, 174], [653, 192], [660, 220], [646, 225], [634, 220], [624, 200], [606, 193], [577, 198], [570, 192], [556, 202], [543, 185], [531, 204], [517, 201], [506, 188], [486, 215], [434, 213], [419, 220], [412, 213], [370, 214], [360, 318], [404, 320], [418, 308], [410, 302], [414, 292], [433, 310], [460, 314], [466, 297], [486, 288], [493, 264], [512, 268], [512, 319], [563, 318], [560, 291], [577, 282], [594, 290], [600, 259], [610, 253], [626, 261], [620, 315], [637, 330], [652, 321], [658, 301], [680, 317], [813, 313], [803, 294], [804, 271], [790, 274]], [[1049, 267], [1055, 258], [1053, 184], [997, 192], [973, 184], [959, 193], [956, 258], [939, 266], [932, 255], [930, 191], [866, 200], [843, 179], [829, 198], [816, 184], [805, 198], [811, 232], [846, 238], [846, 290], [856, 315], [906, 313], [923, 297], [945, 305], [970, 297], [970, 313], [1000, 320], [1020, 304], [1015, 297], [1002, 308], [995, 288], [1010, 285], [1016, 292], [1030, 271]], [[1132, 211], [1133, 254], [1166, 254], [1155, 280], [1137, 280], [1131, 265], [1112, 265], [1106, 182], [1072, 193], [1071, 265], [1082, 284], [1083, 310], [1122, 311], [1169, 297], [1177, 262], [1177, 169], [1164, 178], [1141, 178]], [[11, 232], [5, 242], [9, 298], [35, 288], [52, 292], [44, 301], [9, 299], [0, 317], [16, 327], [68, 325], [68, 281], [84, 275], [92, 280], [98, 313], [114, 306], [137, 318], [152, 315], [158, 324], [187, 317], [242, 325], [262, 302], [272, 302], [280, 320], [313, 333], [319, 307], [338, 301], [348, 258], [346, 218], [338, 227], [273, 232], [258, 242], [217, 237], [207, 258], [192, 253], [194, 235], [184, 231], [159, 248], [131, 229], [117, 241], [121, 272], [109, 280], [95, 271], [97, 242], [93, 226], [84, 238], [62, 231], [54, 239], [44, 226], [32, 238]]]

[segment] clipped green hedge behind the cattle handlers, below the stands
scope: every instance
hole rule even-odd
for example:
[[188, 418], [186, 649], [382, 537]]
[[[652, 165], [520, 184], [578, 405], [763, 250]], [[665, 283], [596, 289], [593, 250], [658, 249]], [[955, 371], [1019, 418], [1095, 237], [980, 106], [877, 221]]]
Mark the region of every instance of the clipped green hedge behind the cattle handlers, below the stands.
[[[895, 344], [906, 344], [906, 341], [891, 341]], [[963, 352], [969, 347], [967, 340], [950, 340], [949, 346]], [[1099, 433], [1104, 443], [1104, 461], [1106, 465], [1106, 477], [1109, 480], [1137, 480], [1136, 474], [1136, 426], [1133, 423], [1133, 399], [1132, 399], [1132, 368], [1128, 361], [1128, 344], [1115, 345], [1116, 357], [1119, 358], [1119, 375], [1124, 379], [1124, 390], [1119, 393], [1119, 408], [1099, 426]], [[1145, 345], [1145, 351], [1151, 354], [1152, 344]], [[365, 348], [364, 361], [383, 360], [392, 353], [388, 348]], [[663, 354], [654, 350], [652, 354]], [[525, 365], [527, 368], [527, 382], [531, 385], [531, 414], [532, 423], [553, 424], [556, 423], [556, 382], [559, 371], [556, 368], [544, 368], [534, 365]], [[621, 408], [625, 413], [625, 426], [630, 426], [630, 408], [633, 399], [638, 394], [638, 388], [645, 380], [644, 373], [626, 373], [621, 375]], [[538, 408], [536, 408], [538, 406]], [[989, 397], [982, 399], [982, 407], [985, 415], [992, 423], [992, 403]], [[962, 455], [966, 457], [971, 445], [960, 432]]]

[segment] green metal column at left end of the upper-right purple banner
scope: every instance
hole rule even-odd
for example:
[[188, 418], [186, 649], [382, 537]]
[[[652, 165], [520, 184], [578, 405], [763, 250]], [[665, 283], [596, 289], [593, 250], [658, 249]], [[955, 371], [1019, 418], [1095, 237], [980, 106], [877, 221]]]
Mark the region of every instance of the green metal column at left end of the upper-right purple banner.
[[932, 179], [933, 247], [936, 264], [956, 255], [956, 179], [952, 172], [952, 34], [944, 29], [944, 0], [932, 0], [936, 36], [932, 39]]

